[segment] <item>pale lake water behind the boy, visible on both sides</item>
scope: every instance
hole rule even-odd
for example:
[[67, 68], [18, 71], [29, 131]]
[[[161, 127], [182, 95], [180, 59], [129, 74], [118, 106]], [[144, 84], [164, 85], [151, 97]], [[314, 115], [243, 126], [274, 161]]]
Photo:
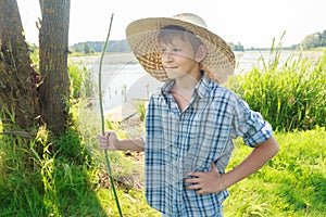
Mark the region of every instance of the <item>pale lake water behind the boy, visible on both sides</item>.
[[[273, 60], [269, 51], [244, 51], [235, 52], [236, 54], [236, 74], [249, 72], [253, 66], [262, 67], [261, 58], [266, 63]], [[312, 63], [323, 55], [323, 52], [296, 52], [281, 51], [280, 62], [285, 62], [290, 56], [296, 60], [299, 55], [306, 58]], [[124, 56], [125, 58], [125, 56]], [[98, 80], [99, 59], [88, 64], [90, 71], [95, 74], [95, 80]], [[118, 54], [105, 56], [102, 65], [102, 90], [103, 90], [103, 108], [109, 111], [124, 102], [135, 99], [148, 99], [163, 84], [149, 76], [139, 64], [135, 64], [135, 59], [130, 55], [128, 61], [133, 64], [118, 63]], [[112, 59], [110, 61], [110, 59]]]

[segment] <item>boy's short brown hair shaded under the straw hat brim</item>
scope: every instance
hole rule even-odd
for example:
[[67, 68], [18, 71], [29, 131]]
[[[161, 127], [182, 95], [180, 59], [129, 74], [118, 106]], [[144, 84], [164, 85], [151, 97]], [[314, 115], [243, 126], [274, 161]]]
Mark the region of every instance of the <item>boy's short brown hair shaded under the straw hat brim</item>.
[[179, 37], [181, 40], [188, 39], [195, 52], [197, 52], [198, 48], [203, 44], [203, 42], [193, 33], [181, 26], [168, 25], [159, 30], [160, 43], [172, 43], [174, 37]]

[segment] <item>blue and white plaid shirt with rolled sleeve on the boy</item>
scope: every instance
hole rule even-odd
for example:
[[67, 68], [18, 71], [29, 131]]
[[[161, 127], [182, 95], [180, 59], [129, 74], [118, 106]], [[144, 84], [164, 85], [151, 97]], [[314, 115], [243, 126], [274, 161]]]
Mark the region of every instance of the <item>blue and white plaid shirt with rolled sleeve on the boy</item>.
[[166, 216], [222, 216], [227, 190], [196, 194], [185, 188], [185, 174], [209, 171], [214, 163], [221, 174], [229, 162], [233, 139], [249, 146], [267, 140], [272, 127], [259, 113], [204, 74], [189, 105], [180, 112], [167, 81], [150, 99], [146, 117], [146, 196], [150, 206]]

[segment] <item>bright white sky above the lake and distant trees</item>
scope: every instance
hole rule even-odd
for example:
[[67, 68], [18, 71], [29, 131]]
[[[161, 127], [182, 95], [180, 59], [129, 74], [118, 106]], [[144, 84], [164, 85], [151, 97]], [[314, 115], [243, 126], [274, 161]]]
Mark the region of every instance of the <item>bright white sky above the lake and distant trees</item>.
[[[38, 43], [39, 0], [17, 3], [26, 40]], [[112, 15], [110, 40], [122, 40], [135, 20], [190, 12], [227, 42], [271, 48], [275, 39], [288, 47], [326, 29], [325, 9], [325, 0], [71, 0], [68, 43], [104, 41]]]

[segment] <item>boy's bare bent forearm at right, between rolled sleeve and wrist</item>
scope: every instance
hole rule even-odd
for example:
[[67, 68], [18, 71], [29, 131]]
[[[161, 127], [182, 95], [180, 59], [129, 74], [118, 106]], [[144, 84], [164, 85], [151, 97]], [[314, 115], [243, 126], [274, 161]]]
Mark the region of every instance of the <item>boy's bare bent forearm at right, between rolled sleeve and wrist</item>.
[[279, 148], [274, 137], [271, 137], [256, 146], [240, 165], [222, 176], [225, 189], [259, 170], [264, 164], [272, 159], [278, 151]]

